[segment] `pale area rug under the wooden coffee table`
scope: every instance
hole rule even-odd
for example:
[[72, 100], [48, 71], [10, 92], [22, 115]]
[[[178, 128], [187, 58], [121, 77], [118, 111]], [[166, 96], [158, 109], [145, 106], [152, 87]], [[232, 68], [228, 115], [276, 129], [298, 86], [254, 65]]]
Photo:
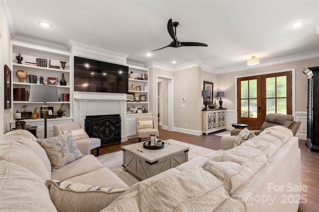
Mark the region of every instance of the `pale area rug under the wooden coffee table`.
[[[214, 150], [204, 148], [201, 146], [196, 146], [193, 144], [170, 140], [171, 143], [176, 143], [179, 145], [184, 145], [189, 147], [188, 151], [188, 160], [191, 160], [194, 157], [199, 155], [205, 155]], [[121, 180], [123, 180], [128, 186], [132, 186], [133, 184], [140, 182], [141, 180], [127, 171], [123, 166], [123, 152], [116, 151], [109, 154], [104, 154], [98, 156], [97, 159], [107, 168], [109, 168], [113, 173], [115, 173]]]

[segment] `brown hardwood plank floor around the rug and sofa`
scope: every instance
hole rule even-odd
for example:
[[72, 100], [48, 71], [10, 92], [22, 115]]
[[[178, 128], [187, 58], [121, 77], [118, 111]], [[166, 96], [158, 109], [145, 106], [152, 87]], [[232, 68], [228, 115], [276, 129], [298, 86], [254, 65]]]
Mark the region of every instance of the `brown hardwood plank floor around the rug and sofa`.
[[[169, 132], [167, 130], [160, 131], [160, 139], [167, 140], [173, 139], [177, 141], [182, 141], [205, 148], [210, 148], [214, 150], [220, 149], [220, 139], [221, 137], [215, 136], [215, 134], [221, 133], [223, 131], [215, 132], [202, 136], [193, 136], [178, 132]], [[143, 141], [148, 140], [147, 138], [142, 139]], [[122, 145], [128, 145], [131, 143], [138, 142], [138, 138], [129, 139], [128, 141], [121, 142], [119, 145], [113, 145], [108, 147], [100, 148], [100, 155], [107, 154], [115, 151], [120, 151]], [[306, 191], [302, 191], [301, 195], [306, 195], [305, 198], [307, 203], [300, 204], [298, 212], [318, 212], [319, 211], [319, 152], [310, 151], [305, 145], [305, 140], [299, 140], [299, 148], [301, 149], [301, 183], [304, 187], [306, 186]], [[96, 155], [95, 150], [92, 150], [92, 154]], [[290, 164], [293, 165], [293, 164]]]

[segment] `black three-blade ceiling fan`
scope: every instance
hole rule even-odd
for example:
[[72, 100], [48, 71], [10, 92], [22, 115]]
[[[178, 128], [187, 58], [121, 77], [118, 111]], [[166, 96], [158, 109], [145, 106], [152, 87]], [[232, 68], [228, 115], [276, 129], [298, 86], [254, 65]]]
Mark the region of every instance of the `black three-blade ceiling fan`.
[[[182, 47], [182, 46], [207, 46], [207, 44], [204, 44], [204, 43], [197, 43], [197, 42], [180, 42], [177, 40], [177, 37], [176, 37], [176, 27], [178, 26], [178, 22], [172, 22], [171, 19], [168, 20], [167, 22], [167, 30], [168, 30], [168, 33], [170, 35], [170, 37], [173, 39], [173, 41], [168, 44], [167, 46], [164, 46], [160, 49], [163, 49], [163, 48], [166, 48], [166, 47], [173, 47], [173, 48], [178, 48], [178, 47]], [[173, 27], [175, 28], [175, 30], [173, 29]], [[157, 50], [160, 50], [160, 49], [156, 49], [156, 50], [153, 50], [151, 52], [154, 52], [154, 51], [157, 51]]]

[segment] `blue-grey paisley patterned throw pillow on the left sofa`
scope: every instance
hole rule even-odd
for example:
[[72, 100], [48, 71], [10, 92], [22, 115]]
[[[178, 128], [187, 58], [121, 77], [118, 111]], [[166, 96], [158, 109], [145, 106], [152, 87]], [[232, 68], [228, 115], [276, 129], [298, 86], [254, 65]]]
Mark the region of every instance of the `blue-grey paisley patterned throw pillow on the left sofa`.
[[51, 162], [52, 171], [83, 157], [71, 133], [64, 133], [52, 138], [38, 139], [37, 141], [46, 151]]

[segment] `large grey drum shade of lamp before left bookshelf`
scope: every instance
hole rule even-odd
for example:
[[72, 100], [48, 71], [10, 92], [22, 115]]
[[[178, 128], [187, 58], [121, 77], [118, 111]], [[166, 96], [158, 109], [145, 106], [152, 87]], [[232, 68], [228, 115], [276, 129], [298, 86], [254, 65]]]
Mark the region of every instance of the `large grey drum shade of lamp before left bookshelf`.
[[55, 85], [32, 84], [29, 102], [58, 102], [58, 90]]

